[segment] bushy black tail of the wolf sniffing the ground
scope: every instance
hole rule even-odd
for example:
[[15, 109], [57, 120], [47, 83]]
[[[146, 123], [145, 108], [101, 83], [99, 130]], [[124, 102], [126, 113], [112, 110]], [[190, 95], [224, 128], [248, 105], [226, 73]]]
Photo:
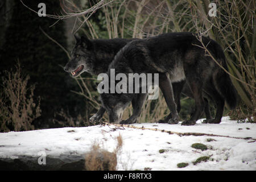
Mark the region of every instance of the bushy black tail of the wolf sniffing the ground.
[[[221, 61], [218, 61], [218, 63], [221, 63], [222, 67], [224, 67], [226, 71], [228, 71], [225, 55], [222, 49], [221, 49], [220, 55], [218, 56], [220, 56], [218, 57], [218, 59], [221, 60]], [[237, 101], [238, 94], [237, 94], [237, 90], [234, 88], [234, 85], [232, 84], [232, 81], [228, 73], [226, 73], [224, 69], [218, 66], [218, 69], [216, 69], [216, 73], [213, 76], [213, 82], [218, 92], [221, 94], [222, 97], [224, 97], [230, 109], [234, 109], [238, 102]]]

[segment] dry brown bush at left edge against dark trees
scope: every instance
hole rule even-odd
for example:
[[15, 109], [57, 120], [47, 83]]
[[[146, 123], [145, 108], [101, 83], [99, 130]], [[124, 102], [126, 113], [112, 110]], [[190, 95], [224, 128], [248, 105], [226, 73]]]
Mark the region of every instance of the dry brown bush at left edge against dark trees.
[[40, 97], [38, 105], [34, 102], [35, 85], [27, 86], [29, 76], [22, 76], [20, 65], [16, 71], [5, 72], [2, 78], [3, 90], [0, 96], [0, 131], [33, 130], [31, 125], [35, 118], [40, 116]]

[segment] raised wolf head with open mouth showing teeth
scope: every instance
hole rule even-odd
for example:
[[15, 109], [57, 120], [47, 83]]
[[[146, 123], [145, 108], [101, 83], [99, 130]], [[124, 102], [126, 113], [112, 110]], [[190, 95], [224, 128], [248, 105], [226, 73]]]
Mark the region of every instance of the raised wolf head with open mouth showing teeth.
[[73, 48], [71, 60], [64, 67], [64, 71], [71, 73], [72, 77], [78, 77], [82, 72], [91, 73], [95, 59], [93, 43], [85, 36], [79, 38], [75, 35], [75, 38], [76, 46]]

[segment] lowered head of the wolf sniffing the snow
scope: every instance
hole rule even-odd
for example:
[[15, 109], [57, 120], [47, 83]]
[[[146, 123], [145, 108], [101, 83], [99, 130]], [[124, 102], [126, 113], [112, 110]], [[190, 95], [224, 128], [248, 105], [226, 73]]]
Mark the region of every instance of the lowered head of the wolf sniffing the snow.
[[110, 123], [119, 123], [122, 119], [123, 110], [130, 104], [134, 94], [101, 94], [102, 106], [109, 115]]

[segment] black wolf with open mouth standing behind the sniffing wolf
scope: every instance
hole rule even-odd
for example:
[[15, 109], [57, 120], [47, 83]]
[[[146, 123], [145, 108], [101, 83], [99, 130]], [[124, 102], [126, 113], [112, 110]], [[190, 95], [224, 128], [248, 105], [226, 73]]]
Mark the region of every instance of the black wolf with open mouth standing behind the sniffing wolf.
[[[97, 75], [101, 72], [106, 72], [108, 70], [109, 64], [112, 62], [114, 55], [125, 46], [132, 39], [96, 39], [89, 40], [85, 36], [76, 38], [76, 45], [72, 51], [72, 59], [65, 66], [65, 71], [71, 72], [73, 77], [77, 77], [81, 75], [82, 72], [89, 72], [93, 75]], [[133, 39], [134, 40], [134, 39]], [[180, 93], [183, 88], [184, 81], [173, 83], [174, 94], [175, 94], [175, 102], [177, 103], [177, 110], [180, 110]], [[185, 84], [183, 93], [187, 96], [193, 98], [193, 94], [188, 84]], [[143, 95], [143, 94], [142, 94]], [[139, 97], [140, 98], [140, 97]], [[140, 103], [140, 101], [137, 101]], [[136, 100], [132, 102], [134, 107], [134, 119], [129, 119], [128, 123], [135, 122], [135, 118], [139, 114], [140, 110], [138, 109], [139, 104]], [[205, 114], [207, 115], [207, 119], [210, 119], [208, 101], [205, 100]], [[98, 121], [102, 115], [104, 114], [105, 109], [101, 107], [100, 110], [93, 117], [90, 118], [90, 121]], [[137, 114], [136, 114], [137, 113]], [[221, 115], [222, 116], [222, 115]]]

